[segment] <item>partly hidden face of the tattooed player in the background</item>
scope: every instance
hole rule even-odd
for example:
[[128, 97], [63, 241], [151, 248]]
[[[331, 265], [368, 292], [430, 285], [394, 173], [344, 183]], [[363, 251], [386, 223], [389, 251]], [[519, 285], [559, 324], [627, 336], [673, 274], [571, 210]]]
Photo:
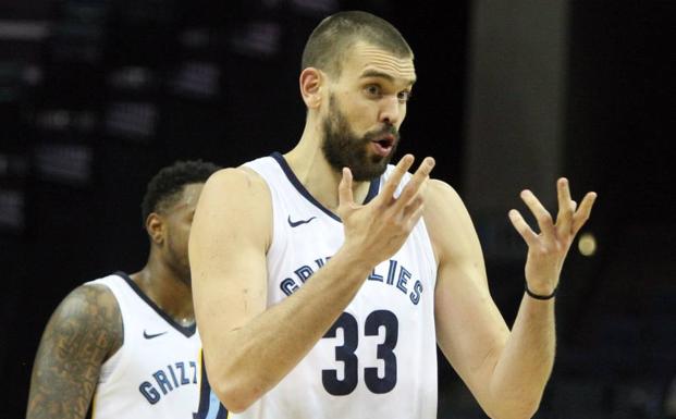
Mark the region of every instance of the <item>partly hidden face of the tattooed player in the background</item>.
[[165, 251], [164, 262], [174, 271], [176, 276], [190, 284], [190, 266], [188, 263], [188, 237], [197, 199], [205, 185], [194, 183], [185, 185], [180, 198], [171, 207], [167, 208], [162, 219], [165, 223]]

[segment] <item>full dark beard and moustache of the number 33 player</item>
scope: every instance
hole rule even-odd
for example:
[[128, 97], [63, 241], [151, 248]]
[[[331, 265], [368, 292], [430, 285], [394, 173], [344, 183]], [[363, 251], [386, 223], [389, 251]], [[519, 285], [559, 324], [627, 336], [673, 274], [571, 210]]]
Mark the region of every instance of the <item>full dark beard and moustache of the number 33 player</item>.
[[[322, 124], [323, 141], [321, 149], [329, 164], [341, 172], [349, 168], [353, 178], [357, 182], [371, 181], [385, 172], [400, 141], [398, 131], [394, 125], [385, 124], [380, 130], [367, 132], [358, 137], [352, 131], [347, 119], [336, 104], [335, 97], [329, 98], [329, 115]], [[392, 135], [394, 143], [388, 156], [369, 156], [370, 143], [383, 135]]]

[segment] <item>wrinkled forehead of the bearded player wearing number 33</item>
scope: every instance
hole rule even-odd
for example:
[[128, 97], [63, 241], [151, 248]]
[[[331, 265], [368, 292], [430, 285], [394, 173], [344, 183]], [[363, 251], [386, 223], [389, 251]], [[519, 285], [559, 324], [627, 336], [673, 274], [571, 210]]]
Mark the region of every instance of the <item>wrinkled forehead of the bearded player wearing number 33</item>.
[[381, 76], [404, 85], [413, 85], [416, 82], [413, 58], [397, 57], [361, 41], [349, 49], [343, 71], [351, 77]]

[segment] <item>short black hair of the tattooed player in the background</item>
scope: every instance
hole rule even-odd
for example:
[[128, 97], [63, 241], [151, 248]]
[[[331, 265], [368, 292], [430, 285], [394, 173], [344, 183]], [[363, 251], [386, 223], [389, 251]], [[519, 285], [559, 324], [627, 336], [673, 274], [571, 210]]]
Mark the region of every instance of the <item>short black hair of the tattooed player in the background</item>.
[[183, 187], [205, 183], [220, 167], [201, 160], [176, 161], [162, 168], [148, 182], [146, 195], [140, 204], [142, 223], [145, 225], [151, 212], [162, 212], [176, 202]]

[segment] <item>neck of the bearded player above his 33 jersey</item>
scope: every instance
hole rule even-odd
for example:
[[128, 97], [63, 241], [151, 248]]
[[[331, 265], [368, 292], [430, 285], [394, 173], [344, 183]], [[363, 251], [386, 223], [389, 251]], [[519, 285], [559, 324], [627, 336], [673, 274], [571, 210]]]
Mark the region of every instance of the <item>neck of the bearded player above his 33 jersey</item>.
[[[309, 124], [308, 124], [309, 125]], [[306, 125], [300, 140], [293, 150], [284, 155], [298, 181], [322, 206], [331, 211], [339, 206], [339, 184], [343, 177], [340, 170], [332, 168], [321, 150], [319, 130]], [[369, 182], [353, 182], [355, 202], [362, 202], [368, 194]]]

